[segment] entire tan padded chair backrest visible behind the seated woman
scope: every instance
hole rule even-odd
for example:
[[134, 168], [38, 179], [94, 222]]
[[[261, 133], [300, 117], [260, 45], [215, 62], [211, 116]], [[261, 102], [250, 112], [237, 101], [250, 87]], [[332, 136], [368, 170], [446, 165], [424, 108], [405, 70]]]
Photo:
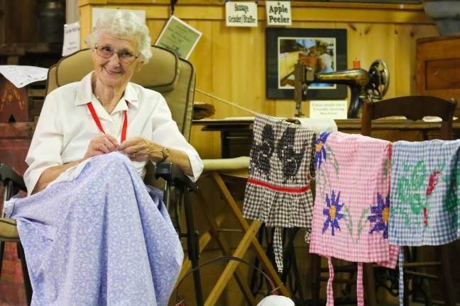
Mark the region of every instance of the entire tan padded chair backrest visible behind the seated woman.
[[[46, 94], [57, 87], [80, 81], [94, 69], [91, 50], [72, 53], [57, 62], [48, 71]], [[153, 56], [131, 81], [148, 89], [159, 91], [168, 102], [179, 130], [190, 139], [193, 98], [195, 95], [195, 70], [190, 62], [177, 57], [162, 47], [152, 46]]]

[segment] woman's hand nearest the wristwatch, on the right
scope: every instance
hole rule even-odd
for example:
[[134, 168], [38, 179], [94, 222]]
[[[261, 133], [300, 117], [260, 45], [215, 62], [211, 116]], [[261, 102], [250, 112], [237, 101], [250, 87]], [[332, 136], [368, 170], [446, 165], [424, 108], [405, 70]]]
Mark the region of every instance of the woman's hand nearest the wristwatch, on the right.
[[119, 146], [119, 150], [125, 152], [134, 162], [145, 162], [148, 159], [157, 162], [163, 159], [163, 146], [141, 136], [126, 140]]

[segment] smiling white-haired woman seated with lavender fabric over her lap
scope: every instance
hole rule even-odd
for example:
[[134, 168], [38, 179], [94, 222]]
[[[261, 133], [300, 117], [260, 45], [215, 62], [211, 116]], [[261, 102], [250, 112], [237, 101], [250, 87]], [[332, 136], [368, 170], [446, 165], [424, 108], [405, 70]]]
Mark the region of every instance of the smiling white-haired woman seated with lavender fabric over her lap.
[[[87, 38], [94, 71], [48, 94], [24, 175], [18, 222], [33, 305], [167, 305], [183, 252], [146, 163], [202, 171], [163, 96], [130, 83], [149, 57], [133, 13], [99, 18]], [[157, 72], [161, 73], [161, 72]]]

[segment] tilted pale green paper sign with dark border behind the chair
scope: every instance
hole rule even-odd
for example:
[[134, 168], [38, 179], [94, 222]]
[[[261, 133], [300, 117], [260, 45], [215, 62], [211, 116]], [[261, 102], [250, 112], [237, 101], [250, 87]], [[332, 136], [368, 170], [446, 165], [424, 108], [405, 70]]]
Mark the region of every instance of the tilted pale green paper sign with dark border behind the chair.
[[166, 23], [155, 45], [165, 47], [175, 52], [178, 57], [183, 57], [187, 60], [193, 49], [195, 49], [201, 35], [202, 33], [199, 30], [173, 15]]

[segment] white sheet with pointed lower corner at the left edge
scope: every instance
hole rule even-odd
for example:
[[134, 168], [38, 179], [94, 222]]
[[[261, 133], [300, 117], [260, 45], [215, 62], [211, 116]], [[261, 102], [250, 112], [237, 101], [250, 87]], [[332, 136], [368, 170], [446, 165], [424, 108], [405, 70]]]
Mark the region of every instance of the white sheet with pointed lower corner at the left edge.
[[21, 88], [34, 81], [43, 81], [48, 76], [48, 68], [19, 65], [0, 65], [0, 73], [14, 86]]

